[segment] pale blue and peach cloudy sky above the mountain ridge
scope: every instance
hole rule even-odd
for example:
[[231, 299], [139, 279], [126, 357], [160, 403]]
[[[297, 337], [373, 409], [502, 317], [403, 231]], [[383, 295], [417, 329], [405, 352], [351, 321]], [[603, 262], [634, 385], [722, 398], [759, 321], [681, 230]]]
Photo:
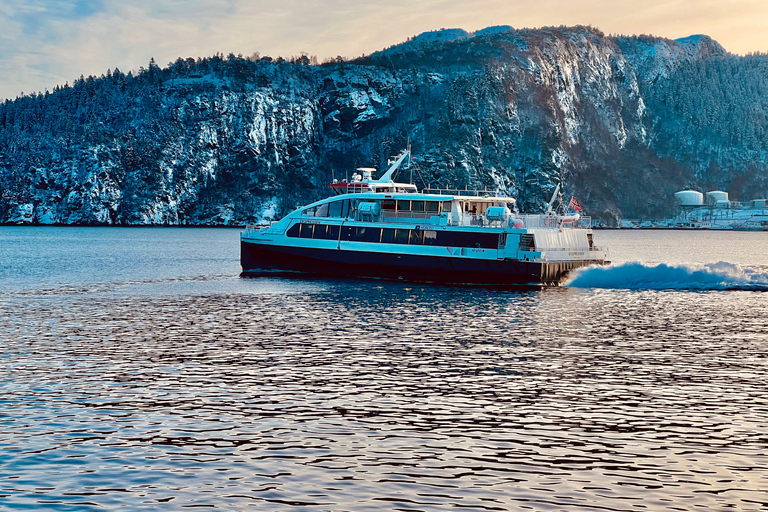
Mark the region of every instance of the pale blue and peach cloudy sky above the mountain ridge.
[[592, 25], [768, 51], [766, 0], [0, 0], [0, 101], [80, 75], [254, 52], [357, 57], [440, 28]]

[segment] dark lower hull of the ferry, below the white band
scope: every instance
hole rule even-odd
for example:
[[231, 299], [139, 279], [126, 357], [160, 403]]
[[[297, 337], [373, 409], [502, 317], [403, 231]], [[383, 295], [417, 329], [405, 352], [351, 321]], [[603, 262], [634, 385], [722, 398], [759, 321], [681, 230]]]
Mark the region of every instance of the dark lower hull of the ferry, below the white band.
[[557, 283], [568, 271], [595, 263], [600, 262], [485, 260], [240, 242], [240, 265], [245, 275], [285, 270], [436, 283], [541, 284]]

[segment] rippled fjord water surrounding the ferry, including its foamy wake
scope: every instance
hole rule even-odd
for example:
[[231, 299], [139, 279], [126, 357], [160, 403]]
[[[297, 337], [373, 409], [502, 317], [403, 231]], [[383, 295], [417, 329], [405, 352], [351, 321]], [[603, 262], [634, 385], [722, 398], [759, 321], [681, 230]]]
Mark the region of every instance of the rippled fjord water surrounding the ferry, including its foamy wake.
[[595, 239], [613, 266], [516, 290], [2, 227], [2, 508], [764, 510], [768, 233]]

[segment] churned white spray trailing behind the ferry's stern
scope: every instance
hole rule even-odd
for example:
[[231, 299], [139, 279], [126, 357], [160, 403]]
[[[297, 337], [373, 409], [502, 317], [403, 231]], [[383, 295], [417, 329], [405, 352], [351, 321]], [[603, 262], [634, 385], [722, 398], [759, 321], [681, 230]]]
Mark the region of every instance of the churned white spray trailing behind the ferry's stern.
[[723, 261], [705, 265], [632, 262], [579, 270], [567, 285], [629, 290], [768, 291], [768, 272]]

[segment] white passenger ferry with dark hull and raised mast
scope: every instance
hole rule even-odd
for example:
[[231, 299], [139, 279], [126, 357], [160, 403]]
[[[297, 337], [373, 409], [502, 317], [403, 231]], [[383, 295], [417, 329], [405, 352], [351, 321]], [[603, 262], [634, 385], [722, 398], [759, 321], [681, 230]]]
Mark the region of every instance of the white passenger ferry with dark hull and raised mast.
[[417, 282], [556, 285], [568, 272], [607, 263], [588, 217], [513, 213], [515, 200], [461, 190], [417, 190], [362, 168], [334, 195], [240, 237], [243, 275], [275, 271]]

